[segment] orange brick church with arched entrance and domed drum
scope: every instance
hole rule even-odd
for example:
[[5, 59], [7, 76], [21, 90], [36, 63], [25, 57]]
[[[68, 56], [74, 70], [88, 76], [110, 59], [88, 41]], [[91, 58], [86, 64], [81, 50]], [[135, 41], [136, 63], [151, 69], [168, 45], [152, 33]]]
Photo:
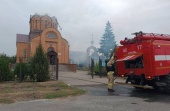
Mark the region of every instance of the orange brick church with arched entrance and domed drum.
[[64, 39], [59, 30], [56, 17], [48, 15], [31, 15], [30, 32], [16, 35], [16, 57], [19, 61], [28, 62], [39, 44], [42, 45], [44, 52], [50, 60], [58, 58], [59, 63], [69, 63], [69, 43]]

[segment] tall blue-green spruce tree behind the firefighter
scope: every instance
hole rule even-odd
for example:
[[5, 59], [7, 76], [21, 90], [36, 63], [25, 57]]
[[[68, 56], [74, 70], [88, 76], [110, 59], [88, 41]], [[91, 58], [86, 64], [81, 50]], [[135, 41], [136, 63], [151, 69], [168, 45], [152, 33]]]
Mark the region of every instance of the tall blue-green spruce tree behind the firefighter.
[[115, 36], [112, 32], [112, 26], [108, 21], [105, 27], [105, 33], [103, 34], [102, 39], [100, 40], [99, 52], [103, 53], [106, 58], [109, 58], [111, 51], [116, 47]]

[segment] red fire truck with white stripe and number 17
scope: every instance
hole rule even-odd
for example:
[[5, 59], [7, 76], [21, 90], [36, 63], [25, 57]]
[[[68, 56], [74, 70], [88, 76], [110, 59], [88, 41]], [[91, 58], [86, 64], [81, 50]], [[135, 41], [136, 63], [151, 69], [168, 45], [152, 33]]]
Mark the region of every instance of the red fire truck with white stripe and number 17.
[[126, 83], [170, 90], [170, 35], [134, 33], [116, 49], [118, 76]]

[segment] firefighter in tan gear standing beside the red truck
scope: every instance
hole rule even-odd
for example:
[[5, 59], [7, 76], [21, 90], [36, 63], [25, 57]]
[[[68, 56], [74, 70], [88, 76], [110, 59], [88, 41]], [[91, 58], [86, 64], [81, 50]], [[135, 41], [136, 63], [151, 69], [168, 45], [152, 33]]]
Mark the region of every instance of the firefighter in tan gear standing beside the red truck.
[[111, 57], [109, 62], [107, 62], [107, 65], [106, 65], [107, 78], [108, 78], [108, 91], [109, 92], [114, 92], [114, 90], [113, 90], [114, 72], [115, 72], [114, 62], [115, 62], [115, 56], [114, 56], [114, 53], [113, 53], [113, 56]]

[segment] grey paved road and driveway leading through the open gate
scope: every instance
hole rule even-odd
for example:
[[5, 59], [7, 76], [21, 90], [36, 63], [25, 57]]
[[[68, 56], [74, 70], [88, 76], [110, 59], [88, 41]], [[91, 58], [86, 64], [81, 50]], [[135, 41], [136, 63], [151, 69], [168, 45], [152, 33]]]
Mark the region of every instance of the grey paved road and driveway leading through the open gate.
[[[0, 105], [0, 111], [168, 111], [170, 94], [152, 89], [136, 90], [131, 86], [115, 85], [114, 93], [107, 92], [107, 79], [86, 72], [60, 72], [59, 80], [87, 90], [77, 97], [53, 100], [36, 100]], [[116, 79], [116, 81], [124, 81]]]

